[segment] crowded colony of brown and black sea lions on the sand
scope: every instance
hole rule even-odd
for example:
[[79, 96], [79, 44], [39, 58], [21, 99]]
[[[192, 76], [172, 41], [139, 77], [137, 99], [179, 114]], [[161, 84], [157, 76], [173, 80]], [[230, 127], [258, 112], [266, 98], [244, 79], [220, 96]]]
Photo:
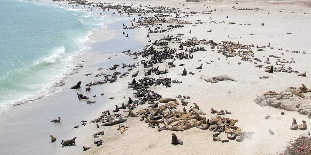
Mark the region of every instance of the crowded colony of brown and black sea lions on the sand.
[[[141, 13], [155, 13], [155, 15], [153, 17], [141, 17], [138, 19], [138, 21], [136, 21], [135, 19], [133, 20], [133, 23], [135, 22], [135, 25], [132, 24], [133, 27], [128, 28], [127, 26], [125, 27], [125, 29], [135, 29], [139, 26], [145, 26], [146, 28], [148, 28], [148, 32], [151, 33], [164, 33], [164, 32], [170, 32], [172, 31], [172, 29], [175, 28], [179, 28], [179, 27], [183, 27], [183, 25], [173, 25], [173, 24], [199, 24], [202, 23], [200, 21], [184, 21], [184, 20], [180, 20], [181, 17], [180, 15], [186, 14], [184, 17], [186, 18], [191, 14], [196, 14], [196, 13], [201, 13], [201, 12], [182, 12], [180, 10], [177, 9], [169, 9], [169, 8], [165, 8], [165, 7], [147, 7], [146, 9], [134, 9], [131, 8], [130, 6], [120, 6], [120, 5], [107, 5], [104, 6], [103, 4], [94, 4], [92, 3], [87, 3], [86, 1], [77, 1], [75, 2], [76, 5], [73, 6], [79, 6], [79, 5], [87, 5], [87, 6], [97, 6], [102, 8], [103, 10], [105, 9], [116, 9], [117, 13], [119, 13], [120, 15], [123, 13], [127, 13], [128, 15], [132, 15], [132, 13], [140, 13], [138, 15], [142, 15]], [[69, 3], [68, 3], [69, 4]], [[109, 3], [110, 4], [110, 3]], [[142, 7], [142, 6], [141, 6]], [[235, 8], [234, 8], [235, 9]], [[122, 11], [121, 11], [122, 10]], [[237, 10], [252, 10], [252, 9], [237, 9]], [[259, 8], [255, 9], [255, 10], [260, 10]], [[210, 12], [212, 11], [217, 11], [215, 10], [211, 10], [209, 12], [207, 12], [206, 14], [211, 14]], [[159, 17], [173, 17], [173, 15], [165, 15], [163, 13], [167, 13], [167, 14], [176, 14], [175, 18], [169, 18], [169, 19], [159, 19]], [[170, 25], [168, 24], [170, 23]], [[214, 22], [216, 23], [216, 22]], [[219, 22], [220, 23], [220, 22]], [[221, 24], [224, 24], [225, 22], [221, 22]], [[230, 22], [229, 24], [235, 24], [234, 22]], [[163, 26], [166, 26], [168, 28], [161, 28]], [[123, 25], [124, 27], [124, 25]], [[154, 28], [154, 30], [151, 30], [151, 27]], [[211, 31], [210, 31], [211, 32]], [[191, 30], [190, 30], [191, 33]], [[253, 35], [253, 34], [251, 34]], [[234, 57], [234, 56], [240, 56], [242, 61], [249, 61], [249, 62], [253, 62], [254, 64], [257, 64], [259, 62], [261, 62], [260, 59], [258, 58], [253, 58], [255, 55], [253, 53], [253, 51], [251, 50], [251, 47], [255, 47], [254, 45], [242, 45], [239, 42], [238, 43], [234, 43], [234, 42], [230, 42], [230, 41], [221, 41], [222, 43], [216, 43], [213, 42], [213, 40], [209, 40], [207, 41], [207, 39], [203, 39], [203, 40], [197, 40], [196, 38], [192, 38], [192, 39], [188, 39], [187, 41], [181, 42], [182, 38], [181, 36], [183, 36], [183, 34], [177, 34], [176, 37], [172, 36], [167, 36], [164, 38], [160, 38], [159, 40], [155, 40], [154, 43], [151, 43], [149, 45], [146, 45], [146, 49], [144, 49], [141, 52], [134, 52], [134, 53], [130, 53], [130, 50], [128, 51], [124, 51], [122, 53], [125, 53], [126, 55], [135, 55], [137, 57], [137, 55], [141, 55], [143, 58], [148, 59], [148, 61], [142, 60], [141, 64], [143, 64], [143, 68], [150, 68], [146, 73], [144, 78], [139, 79], [138, 82], [136, 82], [135, 78], [132, 80], [131, 83], [129, 83], [128, 88], [131, 88], [133, 90], [137, 90], [134, 94], [134, 97], [137, 98], [137, 100], [132, 100], [129, 97], [128, 103], [125, 104], [123, 103], [121, 106], [117, 106], [116, 105], [116, 109], [114, 110], [114, 114], [109, 113], [109, 110], [104, 111], [99, 118], [92, 120], [91, 122], [93, 123], [105, 123], [102, 124], [101, 126], [112, 126], [115, 124], [119, 124], [119, 123], [123, 123], [126, 122], [126, 119], [124, 119], [122, 117], [121, 114], [117, 114], [116, 112], [118, 112], [120, 109], [126, 109], [128, 108], [128, 111], [123, 111], [128, 113], [127, 116], [124, 117], [141, 117], [140, 121], [143, 121], [146, 118], [146, 123], [148, 123], [148, 125], [150, 125], [151, 127], [154, 127], [155, 125], [158, 126], [158, 131], [162, 131], [162, 130], [171, 130], [171, 131], [184, 131], [193, 127], [196, 128], [200, 128], [202, 130], [211, 130], [211, 131], [215, 131], [218, 132], [216, 134], [213, 135], [212, 139], [213, 141], [221, 141], [221, 142], [228, 142], [230, 140], [234, 140], [236, 139], [237, 136], [239, 136], [239, 138], [236, 139], [236, 141], [242, 142], [245, 138], [251, 139], [252, 135], [254, 134], [254, 132], [252, 131], [242, 131], [241, 128], [237, 125], [235, 125], [235, 123], [237, 122], [237, 120], [228, 118], [228, 117], [224, 117], [225, 114], [231, 114], [230, 112], [224, 111], [224, 110], [220, 110], [220, 112], [217, 112], [216, 110], [214, 110], [213, 108], [211, 108], [211, 113], [213, 114], [211, 116], [211, 118], [206, 118], [205, 115], [207, 115], [206, 113], [204, 113], [202, 110], [199, 110], [198, 108], [198, 104], [193, 103], [194, 107], [190, 106], [188, 112], [186, 110], [186, 107], [183, 107], [183, 110], [178, 110], [178, 106], [179, 106], [179, 102], [177, 102], [177, 99], [170, 99], [170, 98], [162, 98], [161, 95], [155, 93], [154, 91], [151, 90], [147, 90], [148, 88], [150, 88], [149, 86], [157, 86], [157, 85], [163, 85], [166, 87], [170, 87], [171, 83], [181, 83], [180, 81], [178, 81], [177, 79], [171, 81], [171, 78], [164, 78], [163, 79], [160, 78], [151, 78], [148, 76], [151, 76], [152, 73], [155, 73], [155, 75], [162, 75], [165, 73], [168, 73], [169, 71], [167, 69], [165, 69], [164, 71], [160, 71], [157, 68], [153, 68], [154, 65], [158, 64], [158, 63], [165, 63], [165, 60], [173, 60], [169, 65], [169, 68], [173, 68], [176, 67], [176, 65], [174, 64], [175, 60], [182, 60], [182, 59], [193, 59], [193, 52], [196, 51], [207, 51], [204, 49], [204, 47], [208, 47], [210, 46], [211, 49], [213, 49], [212, 51], [214, 51], [214, 49], [216, 48], [217, 53], [220, 53], [222, 55], [224, 55], [226, 58], [229, 57]], [[149, 34], [148, 36], [149, 37]], [[179, 45], [179, 49], [171, 49], [168, 46], [168, 42], [174, 41], [175, 44]], [[199, 46], [199, 45], [203, 45], [203, 47]], [[171, 46], [171, 44], [170, 44]], [[185, 47], [185, 49], [184, 49]], [[268, 47], [270, 47], [270, 44], [268, 45]], [[262, 48], [266, 48], [265, 46], [256, 47], [258, 50], [257, 51], [263, 51]], [[270, 47], [273, 49], [273, 47]], [[189, 50], [188, 50], [189, 49]], [[282, 50], [282, 49], [281, 49]], [[294, 53], [298, 53], [294, 52]], [[285, 64], [290, 64], [290, 63], [294, 63], [293, 60], [292, 61], [281, 61], [279, 58], [281, 57], [276, 57], [273, 55], [269, 55], [272, 58], [277, 58], [276, 59], [276, 64], [275, 65], [281, 65], [281, 67], [278, 68], [274, 68], [273, 66], [267, 66], [267, 71], [268, 73], [273, 73], [273, 72], [286, 72], [286, 73], [299, 73], [298, 71], [292, 70], [290, 67], [288, 67], [287, 69], [285, 69]], [[256, 62], [255, 62], [256, 60]], [[284, 59], [285, 60], [285, 59]], [[175, 62], [176, 63], [176, 62]], [[214, 63], [214, 61], [211, 60], [211, 62], [206, 62], [206, 64], [211, 64]], [[266, 64], [271, 64], [270, 60], [267, 59]], [[280, 64], [279, 64], [280, 63]], [[283, 64], [281, 64], [283, 63]], [[138, 64], [139, 65], [139, 64]], [[133, 68], [137, 68], [136, 64], [133, 65], [126, 65], [123, 64], [123, 67], [128, 67], [130, 68], [130, 70], [132, 70]], [[116, 70], [120, 65], [115, 64], [112, 66], [112, 68], [109, 68], [110, 70]], [[180, 64], [179, 66], [183, 66], [183, 64]], [[256, 67], [261, 68], [263, 65], [258, 65]], [[78, 66], [77, 66], [78, 67]], [[79, 66], [82, 67], [82, 66]], [[99, 68], [98, 70], [100, 70], [101, 68]], [[197, 67], [196, 69], [202, 69], [202, 64], [201, 66]], [[185, 73], [186, 69], [184, 69]], [[200, 72], [200, 71], [199, 71]], [[138, 75], [138, 70], [137, 73], [133, 74], [132, 77], [135, 77]], [[189, 74], [192, 72], [189, 72]], [[93, 72], [91, 73], [87, 73], [85, 76], [89, 76], [92, 75]], [[107, 83], [108, 81], [110, 83], [112, 82], [116, 82], [116, 80], [118, 79], [117, 75], [121, 74], [121, 72], [114, 72], [113, 75], [111, 74], [103, 74], [103, 73], [98, 73], [95, 75], [95, 77], [101, 77], [104, 76], [105, 79], [102, 81], [94, 81], [91, 83], [86, 84], [85, 86], [88, 86], [86, 91], [90, 91], [91, 88], [90, 86], [93, 85], [98, 85], [98, 84], [104, 84]], [[129, 74], [128, 72], [123, 73], [119, 78], [123, 78], [128, 76], [127, 74]], [[187, 71], [186, 74], [187, 75]], [[112, 78], [109, 78], [109, 77]], [[298, 76], [302, 76], [305, 77], [306, 76], [306, 72], [303, 74], [299, 74]], [[231, 78], [231, 77], [230, 77]], [[261, 78], [261, 77], [260, 77]], [[266, 77], [264, 77], [266, 78]], [[269, 78], [269, 77], [268, 77]], [[204, 78], [205, 79], [205, 78]], [[233, 79], [233, 78], [232, 78]], [[205, 79], [206, 80], [206, 79]], [[211, 81], [206, 80], [208, 82], [211, 83], [216, 83], [216, 80], [214, 77], [211, 78]], [[230, 79], [229, 79], [230, 80]], [[234, 79], [232, 81], [235, 81]], [[80, 84], [81, 82], [78, 82], [78, 84], [76, 86], [73, 86], [72, 89], [79, 89], [80, 88]], [[306, 90], [306, 89], [303, 89]], [[291, 92], [291, 93], [295, 93]], [[296, 93], [301, 93], [301, 92], [296, 92]], [[267, 95], [281, 95], [282, 97], [284, 95], [279, 94], [279, 93], [275, 93], [275, 92], [268, 92]], [[77, 94], [78, 98], [81, 99], [88, 99], [87, 96], [83, 96], [82, 94]], [[290, 95], [285, 93], [285, 95]], [[295, 94], [297, 95], [297, 94]], [[96, 95], [95, 95], [96, 96]], [[298, 94], [297, 96], [302, 96], [300, 94]], [[187, 97], [182, 97], [182, 96], [177, 96], [176, 98], [178, 98], [182, 105], [186, 105], [188, 104], [188, 101], [184, 101], [187, 99]], [[301, 97], [302, 98], [302, 97]], [[88, 100], [90, 101], [90, 100]], [[87, 101], [87, 102], [88, 102]], [[159, 101], [160, 103], [164, 103], [162, 105], [159, 105]], [[90, 101], [93, 102], [93, 101]], [[95, 102], [95, 101], [94, 101]], [[93, 102], [93, 103], [94, 103]], [[89, 103], [89, 102], [88, 102]], [[134, 108], [137, 108], [140, 104], [150, 104], [150, 106], [148, 108], [145, 109], [141, 109], [138, 110], [136, 113], [134, 113], [132, 110], [134, 110]], [[267, 117], [268, 119], [268, 117]], [[59, 119], [60, 120], [60, 119]], [[53, 121], [56, 122], [56, 121]], [[303, 122], [304, 124], [305, 122]], [[162, 127], [160, 127], [160, 124], [163, 124]], [[302, 129], [304, 129], [304, 125], [302, 124]], [[99, 128], [99, 125], [97, 124], [97, 128]], [[125, 127], [124, 125], [119, 126], [118, 130], [120, 130], [121, 134], [123, 134], [124, 131], [126, 131], [127, 127]], [[223, 139], [221, 140], [220, 137], [218, 137], [221, 133], [225, 133], [227, 134], [227, 139]], [[99, 135], [104, 135], [104, 131], [100, 131], [96, 134], [94, 134], [94, 137], [99, 137]], [[174, 136], [174, 134], [173, 134]], [[176, 136], [176, 135], [175, 135]], [[52, 137], [52, 136], [51, 136]], [[54, 137], [55, 138], [55, 137]], [[70, 140], [62, 140], [62, 144], [63, 146], [66, 145], [72, 145], [75, 143], [75, 139], [77, 137], [74, 137], [73, 139]], [[177, 137], [176, 137], [177, 139]], [[52, 139], [53, 140], [53, 139]], [[180, 139], [178, 139], [179, 141]], [[100, 146], [102, 144], [103, 140], [100, 139], [98, 141], [95, 141], [94, 143], [97, 144], [97, 146]], [[173, 138], [172, 138], [172, 143], [173, 143]], [[176, 144], [174, 142], [174, 144]], [[177, 144], [180, 144], [180, 142], [178, 142]], [[183, 142], [181, 141], [181, 144], [183, 144]], [[83, 146], [84, 151], [89, 149], [90, 147], [85, 147]]]

